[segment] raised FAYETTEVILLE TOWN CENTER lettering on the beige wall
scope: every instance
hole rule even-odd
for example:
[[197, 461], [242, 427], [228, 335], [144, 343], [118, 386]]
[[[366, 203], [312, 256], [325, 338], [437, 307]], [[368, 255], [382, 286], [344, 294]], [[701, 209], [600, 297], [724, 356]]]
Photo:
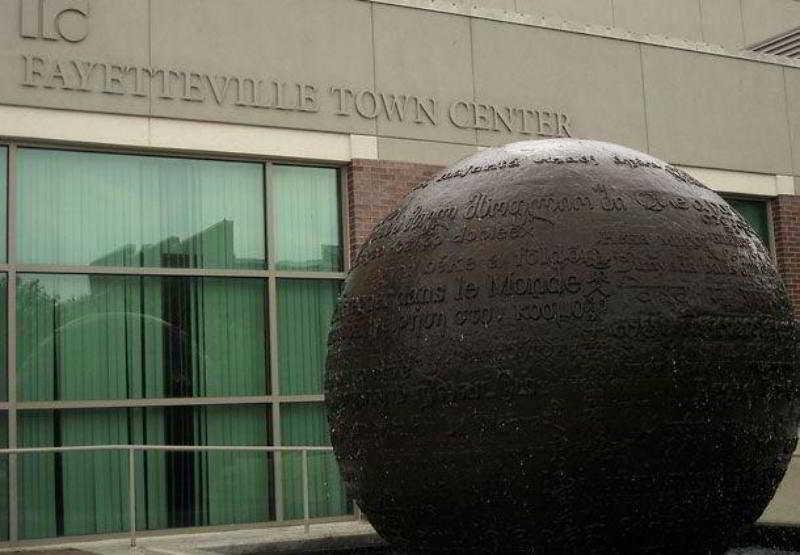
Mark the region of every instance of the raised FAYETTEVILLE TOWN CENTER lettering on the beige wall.
[[[360, 117], [371, 121], [440, 125], [438, 99], [408, 92], [357, 89], [337, 84], [320, 87], [317, 83], [258, 75], [212, 74], [175, 67], [60, 60], [34, 54], [23, 55], [22, 62], [20, 84], [27, 88], [153, 97], [196, 104], [208, 102], [219, 107], [235, 106], [242, 109], [305, 113], [326, 110], [337, 116]], [[328, 96], [321, 98], [320, 91], [325, 90]], [[447, 107], [443, 108], [445, 110], [447, 123], [457, 129], [523, 136], [572, 135], [569, 116], [553, 110], [458, 99], [449, 101]]]

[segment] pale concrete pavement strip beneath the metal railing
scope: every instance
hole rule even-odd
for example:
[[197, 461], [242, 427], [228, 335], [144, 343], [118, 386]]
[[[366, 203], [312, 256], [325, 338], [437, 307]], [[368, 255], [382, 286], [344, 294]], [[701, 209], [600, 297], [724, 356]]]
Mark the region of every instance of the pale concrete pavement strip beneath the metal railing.
[[225, 532], [201, 532], [140, 537], [131, 549], [128, 538], [70, 541], [48, 546], [13, 547], [0, 553], [52, 555], [248, 555], [254, 553], [315, 553], [329, 550], [369, 549], [383, 545], [367, 522], [314, 524], [306, 534], [303, 526], [259, 528]]

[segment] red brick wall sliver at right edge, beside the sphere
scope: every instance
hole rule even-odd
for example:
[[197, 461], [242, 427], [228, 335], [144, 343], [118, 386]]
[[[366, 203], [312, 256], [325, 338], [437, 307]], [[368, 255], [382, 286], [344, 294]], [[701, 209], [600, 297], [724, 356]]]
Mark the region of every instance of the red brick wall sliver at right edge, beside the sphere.
[[778, 270], [800, 316], [800, 197], [781, 195], [771, 204]]

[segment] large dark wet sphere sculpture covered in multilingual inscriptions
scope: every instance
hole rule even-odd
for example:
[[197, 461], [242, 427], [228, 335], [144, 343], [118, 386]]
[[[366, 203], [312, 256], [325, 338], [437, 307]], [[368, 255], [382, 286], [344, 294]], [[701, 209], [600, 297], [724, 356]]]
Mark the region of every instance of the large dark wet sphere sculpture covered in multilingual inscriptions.
[[349, 494], [421, 549], [708, 552], [797, 441], [795, 324], [756, 233], [684, 171], [530, 141], [414, 189], [329, 337]]

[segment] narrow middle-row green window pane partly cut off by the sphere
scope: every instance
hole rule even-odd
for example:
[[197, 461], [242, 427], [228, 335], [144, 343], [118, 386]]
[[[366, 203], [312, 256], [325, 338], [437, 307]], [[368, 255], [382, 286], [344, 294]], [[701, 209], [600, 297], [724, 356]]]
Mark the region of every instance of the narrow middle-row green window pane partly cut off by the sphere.
[[278, 280], [281, 395], [322, 393], [328, 329], [339, 285], [327, 280]]

